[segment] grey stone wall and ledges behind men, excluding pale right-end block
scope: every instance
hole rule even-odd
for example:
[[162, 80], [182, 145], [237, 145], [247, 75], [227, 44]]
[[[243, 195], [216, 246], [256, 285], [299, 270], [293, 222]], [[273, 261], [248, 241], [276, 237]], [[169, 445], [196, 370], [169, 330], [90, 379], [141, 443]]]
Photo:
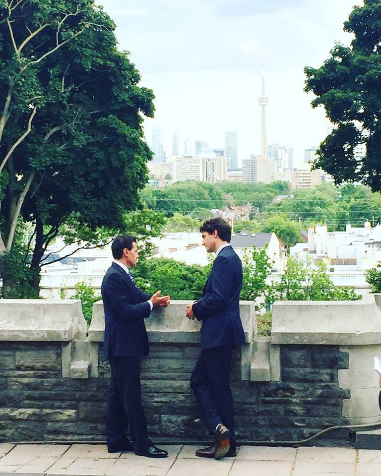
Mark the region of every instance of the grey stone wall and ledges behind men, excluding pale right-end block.
[[[141, 378], [157, 442], [208, 441], [189, 384], [199, 323], [185, 320], [184, 304], [171, 303], [147, 320], [150, 356], [142, 360]], [[282, 343], [282, 326], [274, 328], [273, 344], [256, 337], [253, 303], [242, 302], [241, 314], [246, 344], [235, 351], [232, 368], [239, 441], [298, 440], [348, 423], [343, 401], [351, 395], [340, 388], [338, 374], [349, 371], [350, 349]], [[110, 368], [102, 303], [94, 305], [88, 337], [82, 319], [79, 301], [36, 300], [26, 307], [0, 301], [1, 441], [105, 440]]]

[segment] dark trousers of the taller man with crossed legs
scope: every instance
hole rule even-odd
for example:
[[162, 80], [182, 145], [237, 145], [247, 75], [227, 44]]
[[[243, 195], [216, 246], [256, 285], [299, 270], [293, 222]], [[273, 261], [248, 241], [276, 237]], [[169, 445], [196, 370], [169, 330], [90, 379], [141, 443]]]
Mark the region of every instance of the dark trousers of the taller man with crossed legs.
[[231, 432], [235, 448], [233, 395], [230, 390], [230, 367], [233, 347], [214, 347], [201, 352], [191, 375], [191, 388], [197, 398], [210, 435], [223, 423]]

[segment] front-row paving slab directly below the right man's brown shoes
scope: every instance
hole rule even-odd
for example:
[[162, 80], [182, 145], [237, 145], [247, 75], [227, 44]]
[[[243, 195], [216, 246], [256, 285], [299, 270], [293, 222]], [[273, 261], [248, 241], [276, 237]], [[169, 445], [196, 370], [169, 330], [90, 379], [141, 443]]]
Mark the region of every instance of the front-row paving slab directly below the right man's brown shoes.
[[231, 458], [219, 461], [205, 458], [176, 460], [167, 476], [227, 476], [233, 463]]

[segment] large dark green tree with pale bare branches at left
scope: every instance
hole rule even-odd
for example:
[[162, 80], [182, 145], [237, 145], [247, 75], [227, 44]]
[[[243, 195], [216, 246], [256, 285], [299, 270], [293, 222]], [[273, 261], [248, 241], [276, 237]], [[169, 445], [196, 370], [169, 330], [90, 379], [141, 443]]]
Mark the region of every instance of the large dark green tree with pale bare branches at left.
[[123, 227], [146, 182], [153, 94], [114, 29], [91, 0], [0, 0], [0, 254], [31, 222], [38, 270], [68, 220]]

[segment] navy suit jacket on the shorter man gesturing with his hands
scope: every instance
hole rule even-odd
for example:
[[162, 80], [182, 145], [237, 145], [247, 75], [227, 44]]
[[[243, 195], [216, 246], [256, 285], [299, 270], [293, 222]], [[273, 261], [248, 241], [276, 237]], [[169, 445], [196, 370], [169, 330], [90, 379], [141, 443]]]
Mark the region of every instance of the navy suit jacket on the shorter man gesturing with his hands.
[[102, 281], [105, 311], [104, 352], [107, 357], [142, 357], [149, 353], [144, 319], [151, 295], [136, 288], [126, 271], [113, 263]]

